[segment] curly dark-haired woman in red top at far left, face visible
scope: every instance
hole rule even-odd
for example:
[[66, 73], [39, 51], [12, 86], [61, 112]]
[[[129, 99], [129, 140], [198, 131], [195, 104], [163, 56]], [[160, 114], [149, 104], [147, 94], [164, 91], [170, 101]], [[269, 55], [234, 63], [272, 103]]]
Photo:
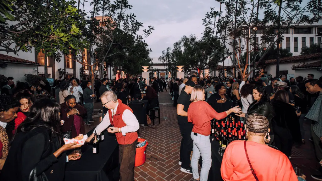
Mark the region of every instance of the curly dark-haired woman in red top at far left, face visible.
[[30, 93], [29, 90], [22, 90], [17, 92], [14, 95], [14, 98], [20, 102], [20, 107], [17, 112], [17, 118], [14, 119], [14, 130], [12, 134], [14, 135], [15, 131], [17, 130], [18, 126], [24, 122], [24, 120], [30, 114], [30, 108], [33, 105], [33, 94]]

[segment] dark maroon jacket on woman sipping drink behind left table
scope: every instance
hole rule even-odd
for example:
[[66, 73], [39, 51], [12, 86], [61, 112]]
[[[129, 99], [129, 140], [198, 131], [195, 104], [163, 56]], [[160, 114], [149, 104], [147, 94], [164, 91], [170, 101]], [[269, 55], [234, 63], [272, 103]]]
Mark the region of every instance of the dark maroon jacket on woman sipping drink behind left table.
[[[87, 111], [84, 107], [82, 107], [79, 104], [76, 104], [74, 107], [79, 112], [79, 117], [81, 119], [81, 134], [85, 134], [85, 125], [83, 121], [83, 117], [87, 115]], [[71, 109], [68, 108], [66, 103], [61, 104], [61, 118], [64, 120], [64, 124], [61, 127], [62, 133], [66, 133], [67, 131], [71, 130], [71, 138], [75, 138], [78, 136], [76, 133], [75, 125], [74, 125], [74, 115], [70, 115], [69, 118], [67, 118], [67, 112], [71, 111]]]

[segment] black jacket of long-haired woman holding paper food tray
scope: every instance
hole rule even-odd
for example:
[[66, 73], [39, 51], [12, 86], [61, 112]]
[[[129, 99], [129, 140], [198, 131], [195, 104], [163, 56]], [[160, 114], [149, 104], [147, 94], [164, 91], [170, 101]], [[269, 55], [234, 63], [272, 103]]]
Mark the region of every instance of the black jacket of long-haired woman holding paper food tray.
[[66, 153], [57, 158], [53, 155], [60, 147], [58, 137], [50, 137], [49, 131], [44, 127], [35, 128], [27, 133], [18, 132], [11, 144], [0, 180], [28, 181], [30, 172], [36, 168], [37, 176], [44, 173], [49, 181], [62, 181], [65, 175]]

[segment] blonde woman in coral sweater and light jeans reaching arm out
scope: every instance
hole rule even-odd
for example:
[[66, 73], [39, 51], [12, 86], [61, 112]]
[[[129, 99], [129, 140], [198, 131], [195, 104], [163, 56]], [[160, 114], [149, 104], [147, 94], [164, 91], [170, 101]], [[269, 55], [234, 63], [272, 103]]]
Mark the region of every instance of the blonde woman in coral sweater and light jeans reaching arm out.
[[[206, 101], [203, 101], [204, 96], [204, 88], [200, 85], [194, 86], [190, 99], [193, 102], [188, 109], [188, 122], [192, 122], [194, 125], [191, 132], [191, 138], [194, 143], [191, 168], [194, 179], [200, 181], [208, 180], [211, 167], [210, 121], [212, 119], [223, 119], [232, 112], [242, 112], [236, 106], [225, 112], [217, 113]], [[199, 178], [198, 160], [200, 156], [202, 157], [203, 164]]]

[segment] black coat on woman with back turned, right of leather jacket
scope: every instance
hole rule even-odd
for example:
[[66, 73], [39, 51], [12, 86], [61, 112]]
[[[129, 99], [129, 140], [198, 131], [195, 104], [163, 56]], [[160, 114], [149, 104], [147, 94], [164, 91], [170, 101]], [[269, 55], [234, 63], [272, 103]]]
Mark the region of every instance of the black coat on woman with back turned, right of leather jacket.
[[291, 138], [296, 143], [301, 143], [301, 132], [298, 116], [296, 115], [295, 108], [282, 101], [272, 101], [273, 105], [273, 119], [272, 128], [274, 134], [279, 137]]

